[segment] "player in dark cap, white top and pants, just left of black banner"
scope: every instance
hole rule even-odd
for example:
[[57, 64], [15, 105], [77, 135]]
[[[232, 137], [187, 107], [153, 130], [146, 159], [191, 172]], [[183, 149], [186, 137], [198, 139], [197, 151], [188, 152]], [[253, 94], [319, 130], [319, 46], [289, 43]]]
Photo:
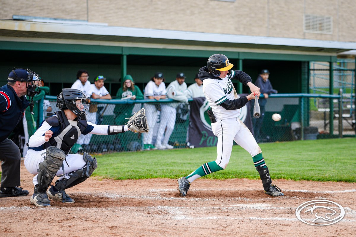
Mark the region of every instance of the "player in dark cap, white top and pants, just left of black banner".
[[[181, 72], [177, 74], [176, 80], [168, 85], [166, 93], [169, 99], [178, 100], [180, 102], [188, 102], [189, 93], [187, 91], [187, 84], [184, 82], [184, 80], [185, 75], [183, 72]], [[157, 139], [155, 143], [155, 146], [159, 150], [173, 149], [173, 146], [169, 145], [168, 141], [176, 123], [178, 106], [179, 103], [168, 103], [161, 105], [161, 122], [159, 123]]]

